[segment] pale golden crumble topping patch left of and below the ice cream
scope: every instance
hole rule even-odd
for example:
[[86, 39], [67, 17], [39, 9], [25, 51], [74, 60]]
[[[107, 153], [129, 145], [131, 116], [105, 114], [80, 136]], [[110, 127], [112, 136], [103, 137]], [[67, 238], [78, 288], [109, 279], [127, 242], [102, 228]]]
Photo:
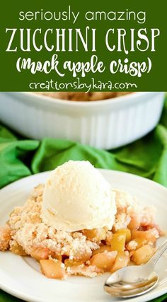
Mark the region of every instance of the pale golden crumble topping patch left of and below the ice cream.
[[32, 253], [33, 248], [42, 247], [58, 255], [67, 255], [70, 259], [79, 259], [82, 254], [89, 257], [92, 250], [99, 248], [97, 243], [87, 240], [80, 232], [56, 231], [42, 222], [40, 214], [43, 187], [35, 187], [32, 197], [23, 207], [13, 210], [9, 219], [12, 240], [21, 245], [28, 255]]

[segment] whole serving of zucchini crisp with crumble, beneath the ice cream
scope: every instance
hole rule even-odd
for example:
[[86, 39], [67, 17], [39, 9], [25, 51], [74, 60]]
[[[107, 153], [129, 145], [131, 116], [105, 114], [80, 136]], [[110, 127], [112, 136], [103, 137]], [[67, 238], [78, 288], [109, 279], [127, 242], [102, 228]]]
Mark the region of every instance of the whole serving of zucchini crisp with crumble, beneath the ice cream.
[[[16, 207], [6, 226], [0, 228], [0, 250], [10, 249], [17, 255], [30, 255], [40, 261], [50, 260], [51, 267], [52, 262], [57, 265], [58, 276], [62, 279], [69, 275], [96, 277], [105, 271], [113, 272], [110, 267], [113, 266], [115, 270], [124, 267], [130, 263], [131, 258], [137, 264], [142, 264], [139, 250], [144, 248], [142, 253], [145, 257], [146, 245], [150, 248], [151, 257], [154, 243], [160, 234], [159, 228], [154, 223], [154, 207], [142, 208], [129, 193], [115, 190], [117, 213], [112, 230], [96, 228], [75, 232], [57, 231], [42, 222], [43, 188], [44, 185], [35, 187], [25, 204]], [[135, 226], [130, 232], [134, 238], [129, 238], [128, 243], [124, 243], [123, 250], [120, 251], [125, 239], [123, 230], [127, 226], [129, 228], [130, 223]], [[122, 233], [117, 233], [118, 230], [122, 230]], [[115, 240], [113, 235], [117, 235], [115, 250], [112, 250], [112, 240]], [[143, 243], [137, 243], [135, 238], [142, 240]], [[48, 272], [50, 267], [45, 265], [45, 262], [42, 263], [43, 274], [55, 278], [54, 273], [50, 270]]]

